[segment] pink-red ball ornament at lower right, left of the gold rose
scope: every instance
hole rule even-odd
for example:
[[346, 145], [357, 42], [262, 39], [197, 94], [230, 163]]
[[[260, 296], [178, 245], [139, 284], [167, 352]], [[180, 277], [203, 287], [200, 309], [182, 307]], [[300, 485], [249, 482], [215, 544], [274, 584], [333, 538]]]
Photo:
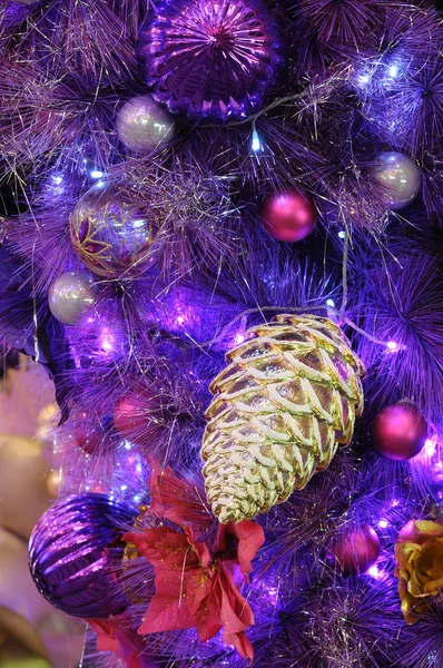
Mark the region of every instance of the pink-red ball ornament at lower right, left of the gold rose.
[[344, 576], [366, 572], [378, 559], [380, 539], [370, 525], [353, 529], [331, 550]]

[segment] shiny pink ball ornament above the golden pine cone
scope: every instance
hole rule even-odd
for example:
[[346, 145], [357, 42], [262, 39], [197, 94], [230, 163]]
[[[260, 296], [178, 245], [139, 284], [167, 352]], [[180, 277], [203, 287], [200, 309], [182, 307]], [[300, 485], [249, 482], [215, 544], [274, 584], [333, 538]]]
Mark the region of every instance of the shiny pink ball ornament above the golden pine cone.
[[317, 222], [314, 200], [298, 190], [268, 195], [262, 204], [260, 215], [266, 232], [278, 242], [304, 239]]

